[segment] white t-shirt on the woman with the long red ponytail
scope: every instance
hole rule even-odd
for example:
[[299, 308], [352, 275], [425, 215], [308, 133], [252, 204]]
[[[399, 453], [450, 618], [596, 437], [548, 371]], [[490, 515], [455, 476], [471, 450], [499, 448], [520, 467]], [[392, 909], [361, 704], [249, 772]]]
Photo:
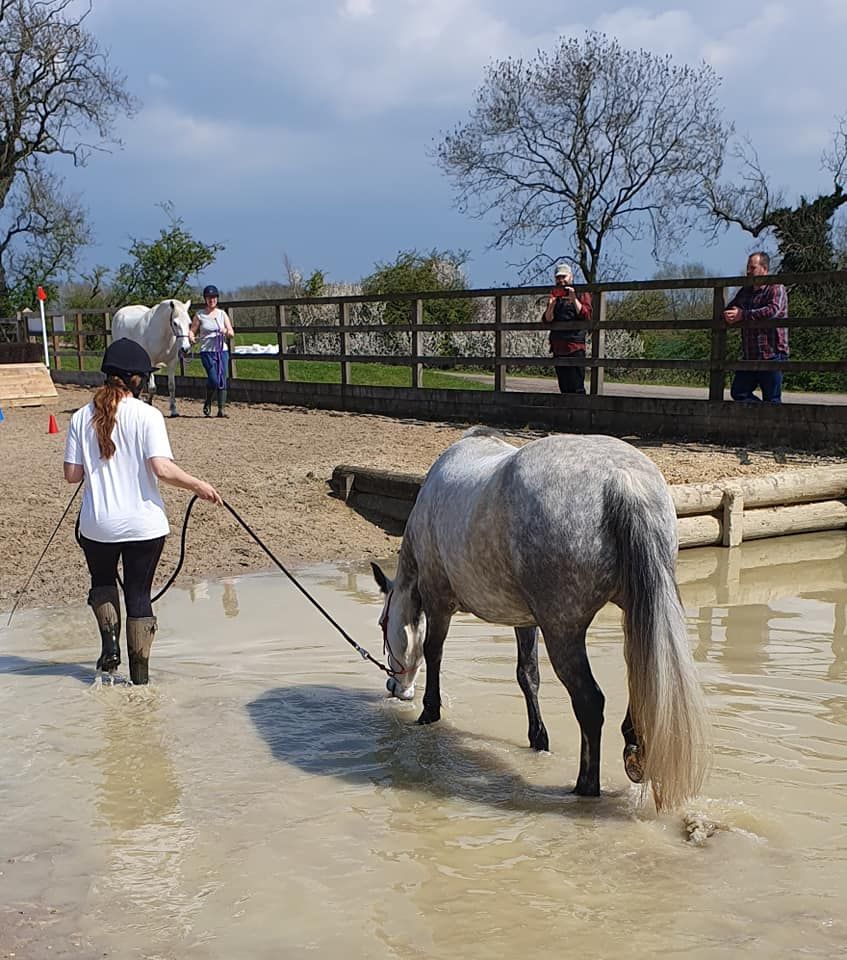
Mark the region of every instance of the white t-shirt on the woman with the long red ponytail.
[[77, 410], [65, 442], [65, 462], [82, 464], [85, 471], [80, 533], [100, 543], [166, 536], [168, 518], [149, 463], [151, 457], [173, 460], [164, 417], [135, 397], [124, 397], [112, 431], [115, 452], [104, 460], [93, 414], [92, 403]]

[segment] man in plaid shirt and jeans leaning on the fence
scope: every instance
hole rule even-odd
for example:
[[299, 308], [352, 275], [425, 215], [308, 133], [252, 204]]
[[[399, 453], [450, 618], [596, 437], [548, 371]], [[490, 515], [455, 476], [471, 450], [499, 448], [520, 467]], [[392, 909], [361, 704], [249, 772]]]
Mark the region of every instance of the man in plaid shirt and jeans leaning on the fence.
[[[764, 277], [770, 270], [770, 257], [759, 251], [747, 260], [748, 277]], [[788, 294], [781, 283], [742, 287], [723, 313], [727, 323], [742, 320], [773, 320], [788, 316]], [[744, 360], [787, 360], [787, 327], [742, 327], [741, 353]], [[761, 387], [766, 403], [782, 402], [781, 370], [736, 370], [730, 393], [742, 403], [761, 403], [753, 393]]]

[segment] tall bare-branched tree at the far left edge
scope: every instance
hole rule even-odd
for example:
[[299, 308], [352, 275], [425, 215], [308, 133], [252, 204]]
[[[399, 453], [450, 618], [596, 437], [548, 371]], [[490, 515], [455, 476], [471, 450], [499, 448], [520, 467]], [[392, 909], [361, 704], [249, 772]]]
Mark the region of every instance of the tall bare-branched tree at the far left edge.
[[46, 162], [84, 164], [137, 102], [76, 0], [0, 0], [0, 312], [31, 303], [89, 242], [78, 200]]

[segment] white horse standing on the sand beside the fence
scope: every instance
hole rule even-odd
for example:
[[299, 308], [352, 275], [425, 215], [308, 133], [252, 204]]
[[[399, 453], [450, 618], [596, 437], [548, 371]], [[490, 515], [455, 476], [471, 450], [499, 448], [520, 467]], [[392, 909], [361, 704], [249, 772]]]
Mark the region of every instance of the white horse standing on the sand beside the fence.
[[[121, 307], [112, 317], [112, 339], [127, 337], [140, 343], [150, 354], [150, 362], [168, 371], [170, 412], [178, 417], [176, 409], [176, 365], [180, 356], [191, 349], [191, 301], [163, 300], [155, 307], [135, 304]], [[156, 380], [150, 374], [150, 403], [156, 395]]]

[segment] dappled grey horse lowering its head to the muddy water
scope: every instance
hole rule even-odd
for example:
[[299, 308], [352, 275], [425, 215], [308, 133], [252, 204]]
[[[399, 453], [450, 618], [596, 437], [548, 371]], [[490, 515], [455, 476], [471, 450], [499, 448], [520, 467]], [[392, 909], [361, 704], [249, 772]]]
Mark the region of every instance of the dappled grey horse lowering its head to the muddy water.
[[574, 792], [600, 793], [605, 698], [585, 634], [597, 611], [624, 614], [629, 705], [624, 767], [650, 784], [657, 809], [694, 796], [707, 760], [708, 723], [674, 576], [676, 511], [655, 464], [602, 436], [551, 436], [515, 447], [475, 427], [433, 464], [409, 516], [380, 618], [389, 692], [414, 696], [419, 723], [441, 716], [439, 671], [450, 618], [467, 611], [515, 628], [517, 678], [529, 742], [548, 749], [538, 706], [541, 628], [581, 731]]

